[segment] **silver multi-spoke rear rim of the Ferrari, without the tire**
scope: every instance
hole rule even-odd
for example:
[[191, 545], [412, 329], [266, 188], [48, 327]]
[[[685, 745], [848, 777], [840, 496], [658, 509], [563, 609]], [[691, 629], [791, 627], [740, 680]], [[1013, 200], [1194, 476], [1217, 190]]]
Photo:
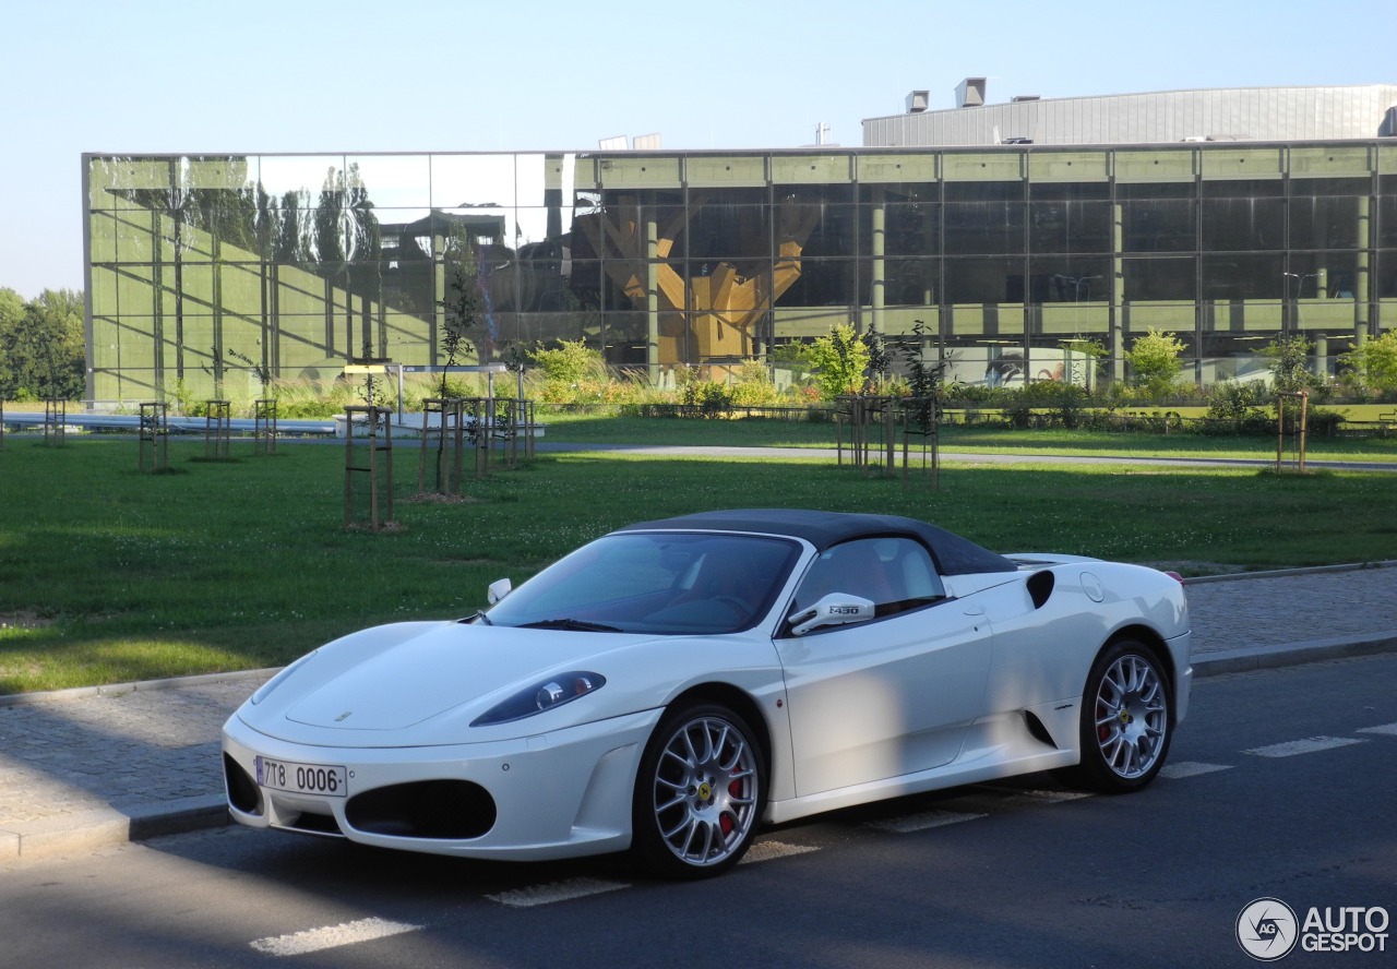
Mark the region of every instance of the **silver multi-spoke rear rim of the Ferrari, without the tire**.
[[1168, 693], [1154, 663], [1126, 653], [1111, 665], [1097, 690], [1095, 729], [1116, 776], [1139, 778], [1154, 767], [1169, 729]]

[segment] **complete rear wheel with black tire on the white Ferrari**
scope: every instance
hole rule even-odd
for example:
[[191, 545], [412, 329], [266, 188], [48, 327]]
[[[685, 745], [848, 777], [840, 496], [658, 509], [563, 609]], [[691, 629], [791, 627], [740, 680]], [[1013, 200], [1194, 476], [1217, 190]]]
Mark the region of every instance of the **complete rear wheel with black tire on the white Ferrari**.
[[1160, 772], [1173, 740], [1173, 688], [1160, 655], [1118, 639], [1091, 665], [1081, 694], [1081, 762], [1069, 772], [1091, 790], [1140, 790]]

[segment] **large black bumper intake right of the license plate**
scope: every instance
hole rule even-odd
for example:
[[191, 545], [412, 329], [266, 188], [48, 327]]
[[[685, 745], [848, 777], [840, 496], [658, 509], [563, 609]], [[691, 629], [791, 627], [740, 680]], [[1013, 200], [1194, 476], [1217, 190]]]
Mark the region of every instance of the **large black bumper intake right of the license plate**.
[[345, 804], [351, 827], [373, 835], [479, 838], [495, 827], [495, 799], [469, 781], [416, 781], [356, 794]]

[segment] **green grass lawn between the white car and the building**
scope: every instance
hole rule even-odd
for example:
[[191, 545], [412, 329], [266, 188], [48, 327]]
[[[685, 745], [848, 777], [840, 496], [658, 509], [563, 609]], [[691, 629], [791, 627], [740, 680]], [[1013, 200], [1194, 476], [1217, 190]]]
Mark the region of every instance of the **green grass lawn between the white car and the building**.
[[[746, 423], [651, 419], [629, 441], [731, 444], [752, 430], [774, 437], [742, 443], [784, 444], [806, 430]], [[602, 427], [550, 420], [549, 438], [624, 429]], [[281, 665], [367, 624], [468, 614], [490, 581], [517, 584], [617, 525], [722, 507], [907, 514], [1000, 552], [1192, 574], [1397, 557], [1397, 479], [1380, 472], [951, 462], [930, 491], [826, 458], [562, 452], [471, 480], [460, 501], [425, 501], [414, 498], [418, 451], [400, 447], [398, 526], [370, 532], [344, 526], [342, 445], [251, 457], [250, 441], [233, 441], [233, 454], [204, 462], [201, 443], [176, 441], [173, 473], [147, 475], [130, 438], [53, 448], [6, 437], [0, 693]]]

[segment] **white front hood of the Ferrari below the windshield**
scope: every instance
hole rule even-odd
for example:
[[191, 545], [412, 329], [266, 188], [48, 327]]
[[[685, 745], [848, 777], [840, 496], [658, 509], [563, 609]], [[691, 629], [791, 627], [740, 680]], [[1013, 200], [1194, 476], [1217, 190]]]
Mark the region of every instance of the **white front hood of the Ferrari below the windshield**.
[[464, 623], [379, 627], [321, 648], [240, 713], [264, 733], [299, 740], [312, 737], [296, 725], [351, 741], [344, 734], [401, 732], [451, 711], [469, 720], [541, 679], [591, 669], [652, 638]]

